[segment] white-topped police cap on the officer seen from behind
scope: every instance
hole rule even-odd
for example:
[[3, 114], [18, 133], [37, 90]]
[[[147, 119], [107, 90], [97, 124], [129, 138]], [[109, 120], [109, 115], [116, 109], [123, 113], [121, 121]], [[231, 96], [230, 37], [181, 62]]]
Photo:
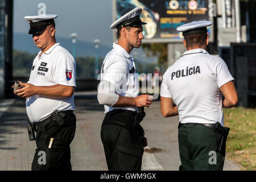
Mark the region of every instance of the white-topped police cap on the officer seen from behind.
[[211, 26], [212, 22], [210, 21], [194, 21], [191, 23], [183, 24], [182, 26], [177, 27], [177, 31], [183, 32], [183, 36], [191, 34], [199, 34], [207, 32], [207, 27]]

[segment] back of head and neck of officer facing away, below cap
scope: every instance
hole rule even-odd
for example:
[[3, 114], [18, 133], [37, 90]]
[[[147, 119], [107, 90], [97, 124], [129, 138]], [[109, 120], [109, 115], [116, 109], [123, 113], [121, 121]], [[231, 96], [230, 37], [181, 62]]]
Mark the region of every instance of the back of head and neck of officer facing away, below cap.
[[207, 32], [199, 33], [199, 34], [191, 34], [191, 35], [185, 35], [184, 39], [186, 42], [187, 48], [193, 48], [193, 47], [201, 47], [205, 45], [205, 41], [207, 40]]

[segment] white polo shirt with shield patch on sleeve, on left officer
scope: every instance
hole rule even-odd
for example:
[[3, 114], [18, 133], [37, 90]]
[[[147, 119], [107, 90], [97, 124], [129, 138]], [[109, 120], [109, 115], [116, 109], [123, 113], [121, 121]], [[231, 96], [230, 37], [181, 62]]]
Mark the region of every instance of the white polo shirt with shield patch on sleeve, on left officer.
[[[31, 68], [28, 83], [35, 86], [56, 84], [76, 86], [76, 63], [73, 56], [59, 43], [46, 52], [38, 53]], [[48, 118], [55, 110], [75, 110], [74, 95], [70, 98], [48, 98], [34, 95], [26, 100], [26, 110], [31, 122], [40, 122]]]

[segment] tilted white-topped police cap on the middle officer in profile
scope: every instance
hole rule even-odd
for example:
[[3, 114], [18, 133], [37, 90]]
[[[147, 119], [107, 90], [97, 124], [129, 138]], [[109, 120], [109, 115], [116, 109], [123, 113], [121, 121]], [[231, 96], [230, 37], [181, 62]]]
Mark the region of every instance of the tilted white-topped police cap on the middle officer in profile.
[[112, 23], [110, 28], [117, 28], [117, 30], [119, 30], [122, 27], [133, 27], [138, 26], [140, 24], [147, 24], [145, 22], [142, 22], [141, 18], [139, 18], [141, 13], [142, 9], [140, 7], [135, 7], [135, 9], [129, 11], [125, 15], [121, 16], [121, 18], [117, 19], [114, 23]]

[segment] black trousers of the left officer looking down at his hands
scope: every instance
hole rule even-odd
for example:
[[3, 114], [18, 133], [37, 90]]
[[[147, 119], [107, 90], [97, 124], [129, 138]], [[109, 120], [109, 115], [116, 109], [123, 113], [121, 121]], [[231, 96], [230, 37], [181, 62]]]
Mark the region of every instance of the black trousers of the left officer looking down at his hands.
[[[65, 124], [59, 126], [56, 121], [46, 123], [36, 129], [36, 151], [32, 162], [32, 171], [62, 170], [71, 171], [71, 144], [76, 130], [76, 116], [65, 114]], [[53, 138], [52, 147], [48, 148]]]

